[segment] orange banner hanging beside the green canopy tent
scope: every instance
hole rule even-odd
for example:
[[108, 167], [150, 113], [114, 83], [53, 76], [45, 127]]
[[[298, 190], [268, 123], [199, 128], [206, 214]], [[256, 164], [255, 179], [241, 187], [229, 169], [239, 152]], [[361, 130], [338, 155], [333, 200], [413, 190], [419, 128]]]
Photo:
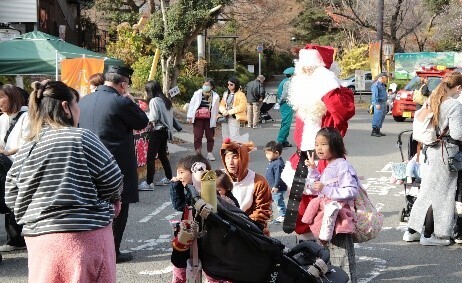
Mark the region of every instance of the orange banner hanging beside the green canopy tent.
[[104, 60], [95, 58], [65, 59], [61, 62], [61, 80], [77, 90], [80, 96], [90, 93], [88, 79], [104, 71]]

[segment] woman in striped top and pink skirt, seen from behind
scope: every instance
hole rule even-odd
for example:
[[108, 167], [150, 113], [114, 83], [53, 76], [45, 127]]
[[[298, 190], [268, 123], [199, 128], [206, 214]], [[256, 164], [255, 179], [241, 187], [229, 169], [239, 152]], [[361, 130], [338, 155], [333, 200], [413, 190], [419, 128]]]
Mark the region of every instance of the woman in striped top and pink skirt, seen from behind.
[[30, 133], [5, 197], [24, 225], [29, 282], [116, 282], [112, 221], [123, 176], [98, 137], [76, 128], [78, 95], [57, 81], [33, 88]]

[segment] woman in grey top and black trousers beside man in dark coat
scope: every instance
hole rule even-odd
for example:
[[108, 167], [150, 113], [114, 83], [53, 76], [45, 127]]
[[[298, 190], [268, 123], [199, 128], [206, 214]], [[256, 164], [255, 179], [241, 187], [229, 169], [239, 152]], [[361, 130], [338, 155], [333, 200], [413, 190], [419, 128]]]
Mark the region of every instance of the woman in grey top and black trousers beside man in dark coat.
[[[170, 184], [172, 179], [172, 167], [167, 156], [167, 142], [172, 141], [172, 131], [174, 124], [173, 105], [162, 92], [162, 87], [157, 81], [148, 81], [144, 86], [146, 100], [149, 101], [149, 112], [147, 112], [149, 122], [153, 130], [149, 134], [148, 154], [146, 164], [146, 181], [143, 181], [139, 190], [154, 190], [154, 174], [156, 173], [155, 158], [159, 158], [164, 168], [165, 178], [156, 183], [157, 186]], [[179, 130], [177, 128], [177, 130]]]

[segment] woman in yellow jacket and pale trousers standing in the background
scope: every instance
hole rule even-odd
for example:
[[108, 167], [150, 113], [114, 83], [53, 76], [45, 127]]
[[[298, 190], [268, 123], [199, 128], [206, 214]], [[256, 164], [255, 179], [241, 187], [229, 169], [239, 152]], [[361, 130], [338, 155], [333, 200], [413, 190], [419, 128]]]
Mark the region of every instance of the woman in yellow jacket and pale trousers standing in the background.
[[219, 110], [226, 118], [226, 122], [221, 125], [223, 139], [237, 141], [240, 138], [240, 123], [247, 121], [247, 98], [241, 91], [241, 84], [236, 77], [228, 80], [228, 90], [223, 94]]

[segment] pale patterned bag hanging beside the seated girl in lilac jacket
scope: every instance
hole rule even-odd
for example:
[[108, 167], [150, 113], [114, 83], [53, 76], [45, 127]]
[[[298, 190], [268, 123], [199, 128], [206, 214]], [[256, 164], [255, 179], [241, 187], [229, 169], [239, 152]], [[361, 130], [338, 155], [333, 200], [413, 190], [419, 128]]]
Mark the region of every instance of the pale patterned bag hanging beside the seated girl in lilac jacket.
[[[358, 182], [359, 184], [359, 182]], [[356, 229], [353, 233], [354, 243], [363, 243], [376, 238], [383, 226], [383, 214], [377, 211], [362, 185], [354, 200]]]

